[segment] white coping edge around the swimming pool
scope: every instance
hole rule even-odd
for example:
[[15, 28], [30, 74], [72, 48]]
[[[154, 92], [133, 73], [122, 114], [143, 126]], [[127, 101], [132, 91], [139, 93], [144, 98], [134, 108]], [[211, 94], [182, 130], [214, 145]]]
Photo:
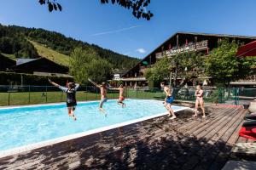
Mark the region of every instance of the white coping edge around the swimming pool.
[[[79, 103], [91, 103], [91, 102], [96, 102], [96, 101], [89, 101], [89, 102], [86, 101], [86, 102], [79, 102]], [[49, 105], [54, 105], [54, 104], [49, 104]], [[62, 104], [57, 104], [57, 105], [62, 105]], [[29, 106], [24, 106], [24, 107], [33, 107], [33, 106], [38, 106], [38, 105], [29, 105]], [[15, 107], [11, 107], [11, 108], [15, 108]], [[20, 108], [19, 106], [17, 106], [17, 107]], [[5, 109], [8, 109], [8, 108], [9, 107], [7, 107]], [[186, 110], [186, 109], [189, 109], [189, 107], [183, 107], [181, 109], [177, 109], [174, 112], [183, 111], [183, 110]], [[86, 131], [86, 132], [83, 132], [83, 133], [70, 134], [70, 135], [67, 135], [67, 136], [59, 137], [59, 138], [56, 138], [56, 139], [49, 139], [49, 140], [45, 140], [43, 142], [38, 142], [38, 143], [35, 143], [35, 144], [27, 144], [27, 145], [16, 147], [16, 148], [10, 149], [10, 150], [0, 150], [0, 158], [3, 158], [5, 156], [12, 156], [12, 155], [20, 154], [22, 152], [26, 152], [26, 151], [30, 151], [30, 150], [35, 150], [35, 149], [42, 148], [42, 147], [45, 147], [45, 146], [48, 146], [48, 145], [51, 145], [51, 144], [58, 144], [58, 143], [65, 142], [65, 141], [68, 141], [68, 140], [71, 140], [71, 139], [78, 139], [78, 138], [88, 136], [88, 135], [94, 134], [94, 133], [101, 133], [103, 131], [111, 130], [111, 129], [117, 128], [117, 127], [124, 127], [126, 125], [130, 125], [130, 124], [137, 123], [137, 122], [143, 122], [143, 121], [146, 121], [148, 119], [152, 119], [152, 118], [159, 117], [159, 116], [166, 116], [168, 114], [169, 114], [168, 111], [166, 111], [164, 113], [160, 113], [160, 114], [156, 114], [156, 115], [152, 115], [152, 116], [146, 116], [146, 117], [142, 117], [142, 118], [132, 120], [132, 121], [121, 122], [121, 123], [117, 123], [117, 124], [110, 125], [110, 126], [107, 126], [107, 127], [96, 128], [96, 129], [89, 130], [89, 131]]]

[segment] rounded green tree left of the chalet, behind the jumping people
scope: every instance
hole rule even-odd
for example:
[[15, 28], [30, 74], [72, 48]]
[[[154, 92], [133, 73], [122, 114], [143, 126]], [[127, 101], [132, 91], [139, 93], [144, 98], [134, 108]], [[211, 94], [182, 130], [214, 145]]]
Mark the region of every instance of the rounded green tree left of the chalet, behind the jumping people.
[[88, 78], [104, 82], [111, 77], [112, 65], [106, 59], [100, 59], [91, 48], [75, 48], [71, 54], [70, 73], [77, 82], [86, 84]]

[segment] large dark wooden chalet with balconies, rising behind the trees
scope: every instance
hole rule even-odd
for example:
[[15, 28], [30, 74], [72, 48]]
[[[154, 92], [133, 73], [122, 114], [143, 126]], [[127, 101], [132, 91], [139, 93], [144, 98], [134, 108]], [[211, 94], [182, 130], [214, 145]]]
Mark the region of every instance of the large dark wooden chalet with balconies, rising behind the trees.
[[[190, 52], [200, 52], [201, 54], [205, 54], [207, 57], [207, 54], [213, 48], [218, 47], [218, 41], [221, 41], [223, 38], [228, 38], [230, 41], [235, 39], [236, 41], [244, 44], [256, 40], [256, 37], [247, 36], [177, 32], [138, 62], [137, 65], [131, 68], [131, 70], [126, 71], [120, 80], [128, 87], [146, 86], [148, 82], [144, 77], [144, 73], [148, 68], [154, 65], [157, 59], [160, 59], [163, 56], [172, 57], [176, 54]], [[198, 80], [195, 81], [202, 83], [206, 81], [206, 78], [209, 77], [199, 77]]]

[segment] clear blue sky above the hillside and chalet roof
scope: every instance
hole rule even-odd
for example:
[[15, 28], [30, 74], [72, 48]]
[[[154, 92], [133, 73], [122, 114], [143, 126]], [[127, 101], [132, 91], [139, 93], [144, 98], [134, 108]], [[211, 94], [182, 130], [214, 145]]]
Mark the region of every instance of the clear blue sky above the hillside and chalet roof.
[[0, 23], [44, 28], [94, 43], [119, 54], [143, 58], [177, 31], [256, 36], [255, 0], [151, 0], [152, 20], [100, 0], [57, 0], [63, 11], [49, 13], [38, 0], [8, 0]]

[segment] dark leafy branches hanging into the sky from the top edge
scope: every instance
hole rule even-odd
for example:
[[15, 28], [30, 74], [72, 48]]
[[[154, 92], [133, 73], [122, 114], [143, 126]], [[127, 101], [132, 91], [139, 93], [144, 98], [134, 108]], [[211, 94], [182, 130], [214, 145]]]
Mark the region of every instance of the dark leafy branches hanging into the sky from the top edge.
[[[102, 4], [111, 3], [112, 4], [118, 4], [124, 8], [132, 9], [132, 14], [137, 18], [143, 18], [146, 20], [150, 20], [154, 14], [150, 12], [150, 10], [147, 11], [148, 4], [150, 3], [150, 0], [100, 0]], [[41, 5], [48, 4], [49, 12], [52, 12], [55, 10], [62, 10], [61, 4], [56, 3], [56, 0], [39, 0], [39, 3]]]

